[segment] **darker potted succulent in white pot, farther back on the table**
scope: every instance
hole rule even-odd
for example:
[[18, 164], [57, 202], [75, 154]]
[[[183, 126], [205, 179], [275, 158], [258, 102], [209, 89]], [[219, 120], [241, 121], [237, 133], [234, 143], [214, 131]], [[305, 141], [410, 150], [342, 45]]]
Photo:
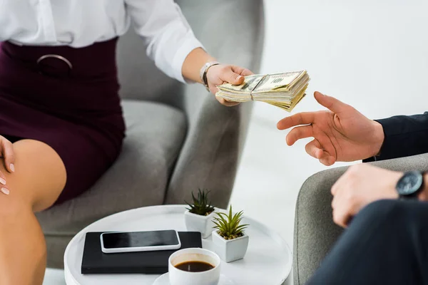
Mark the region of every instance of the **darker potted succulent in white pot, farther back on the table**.
[[199, 190], [198, 197], [192, 193], [193, 204], [184, 213], [185, 227], [189, 232], [200, 232], [203, 239], [210, 237], [213, 232], [214, 206], [208, 199], [208, 190]]

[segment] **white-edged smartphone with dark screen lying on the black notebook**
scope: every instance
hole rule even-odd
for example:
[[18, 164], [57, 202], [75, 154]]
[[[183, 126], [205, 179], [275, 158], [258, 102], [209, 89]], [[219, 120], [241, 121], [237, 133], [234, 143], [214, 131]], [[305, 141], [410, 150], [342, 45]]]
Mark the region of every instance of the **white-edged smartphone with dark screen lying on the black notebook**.
[[150, 252], [181, 247], [178, 232], [173, 229], [150, 232], [104, 232], [100, 238], [101, 250], [106, 254]]

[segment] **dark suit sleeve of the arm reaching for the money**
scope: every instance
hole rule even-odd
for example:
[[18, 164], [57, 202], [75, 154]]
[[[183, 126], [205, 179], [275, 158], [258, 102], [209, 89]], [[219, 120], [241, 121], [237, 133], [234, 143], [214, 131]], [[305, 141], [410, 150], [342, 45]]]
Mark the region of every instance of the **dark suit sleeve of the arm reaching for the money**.
[[423, 115], [394, 116], [376, 120], [384, 130], [380, 155], [363, 162], [389, 160], [428, 152], [428, 112]]

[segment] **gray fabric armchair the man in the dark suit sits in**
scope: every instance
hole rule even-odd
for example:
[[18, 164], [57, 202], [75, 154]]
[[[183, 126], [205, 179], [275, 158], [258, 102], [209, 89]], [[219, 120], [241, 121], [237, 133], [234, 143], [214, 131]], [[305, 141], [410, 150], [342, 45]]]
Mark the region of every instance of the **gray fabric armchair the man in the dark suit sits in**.
[[[389, 170], [428, 170], [428, 154], [371, 162]], [[332, 222], [330, 189], [346, 167], [318, 172], [300, 189], [295, 213], [293, 250], [294, 284], [305, 284], [339, 237], [342, 229]]]

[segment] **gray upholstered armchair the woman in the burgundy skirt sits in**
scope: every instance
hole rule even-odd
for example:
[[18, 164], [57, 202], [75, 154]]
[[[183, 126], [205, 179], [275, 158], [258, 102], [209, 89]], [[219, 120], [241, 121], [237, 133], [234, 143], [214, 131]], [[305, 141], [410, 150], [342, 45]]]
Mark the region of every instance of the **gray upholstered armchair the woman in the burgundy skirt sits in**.
[[[177, 2], [209, 53], [258, 72], [263, 1]], [[122, 153], [91, 190], [37, 214], [49, 267], [62, 268], [71, 238], [109, 214], [183, 204], [198, 188], [212, 190], [218, 207], [228, 205], [251, 104], [226, 108], [203, 86], [167, 78], [146, 58], [143, 41], [133, 31], [119, 41], [118, 68], [127, 125]]]

